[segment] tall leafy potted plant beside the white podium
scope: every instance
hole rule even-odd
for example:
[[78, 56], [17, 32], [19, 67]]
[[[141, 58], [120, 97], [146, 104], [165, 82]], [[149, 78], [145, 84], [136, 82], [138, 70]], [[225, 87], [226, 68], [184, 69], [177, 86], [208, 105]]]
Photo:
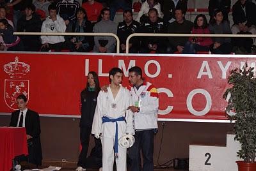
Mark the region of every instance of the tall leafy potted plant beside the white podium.
[[223, 98], [228, 101], [226, 112], [236, 112], [228, 115], [230, 122], [234, 121], [235, 140], [241, 144], [237, 156], [244, 161], [236, 161], [239, 171], [256, 170], [256, 78], [253, 68], [248, 68], [247, 63], [241, 70], [236, 68], [228, 77], [231, 85]]

